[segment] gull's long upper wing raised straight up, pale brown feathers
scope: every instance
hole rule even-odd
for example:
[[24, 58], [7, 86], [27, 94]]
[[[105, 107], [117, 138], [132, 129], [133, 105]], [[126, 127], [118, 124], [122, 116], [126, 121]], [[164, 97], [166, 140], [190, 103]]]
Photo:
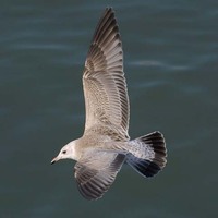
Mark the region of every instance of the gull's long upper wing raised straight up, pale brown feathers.
[[112, 9], [106, 9], [94, 34], [85, 62], [83, 89], [85, 131], [94, 125], [114, 125], [129, 137], [129, 96], [123, 73], [123, 51]]

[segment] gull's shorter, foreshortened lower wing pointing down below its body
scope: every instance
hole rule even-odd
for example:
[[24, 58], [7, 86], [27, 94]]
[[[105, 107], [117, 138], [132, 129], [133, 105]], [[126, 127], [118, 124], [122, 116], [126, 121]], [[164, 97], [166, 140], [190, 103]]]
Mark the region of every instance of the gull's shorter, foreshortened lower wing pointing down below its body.
[[113, 183], [125, 159], [124, 155], [99, 153], [75, 165], [75, 179], [81, 194], [98, 199]]

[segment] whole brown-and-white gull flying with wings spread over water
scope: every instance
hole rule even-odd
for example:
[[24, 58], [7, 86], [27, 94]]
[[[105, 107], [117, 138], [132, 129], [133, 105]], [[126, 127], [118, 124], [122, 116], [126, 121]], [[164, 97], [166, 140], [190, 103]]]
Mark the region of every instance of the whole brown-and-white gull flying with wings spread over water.
[[83, 72], [85, 130], [62, 147], [51, 164], [76, 161], [74, 175], [86, 199], [100, 198], [124, 162], [144, 178], [157, 174], [167, 162], [164, 135], [156, 131], [135, 140], [129, 136], [130, 104], [123, 72], [123, 50], [112, 8], [107, 8], [94, 33]]

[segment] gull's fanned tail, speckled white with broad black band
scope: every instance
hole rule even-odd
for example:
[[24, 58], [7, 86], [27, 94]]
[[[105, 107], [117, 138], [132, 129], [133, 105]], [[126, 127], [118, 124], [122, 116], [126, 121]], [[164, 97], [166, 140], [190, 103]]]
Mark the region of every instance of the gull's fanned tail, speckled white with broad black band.
[[160, 132], [130, 141], [126, 162], [143, 177], [157, 174], [167, 162], [165, 137]]

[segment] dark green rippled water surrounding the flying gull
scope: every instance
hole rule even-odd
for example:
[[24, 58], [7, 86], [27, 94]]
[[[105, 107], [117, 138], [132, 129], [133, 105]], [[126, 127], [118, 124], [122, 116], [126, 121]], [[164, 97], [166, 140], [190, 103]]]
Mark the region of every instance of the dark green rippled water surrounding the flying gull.
[[[83, 133], [82, 71], [107, 5], [123, 40], [130, 135], [161, 131], [169, 157], [150, 180], [124, 166], [87, 202], [74, 162], [50, 160]], [[0, 17], [0, 217], [217, 217], [217, 1], [9, 0]]]

